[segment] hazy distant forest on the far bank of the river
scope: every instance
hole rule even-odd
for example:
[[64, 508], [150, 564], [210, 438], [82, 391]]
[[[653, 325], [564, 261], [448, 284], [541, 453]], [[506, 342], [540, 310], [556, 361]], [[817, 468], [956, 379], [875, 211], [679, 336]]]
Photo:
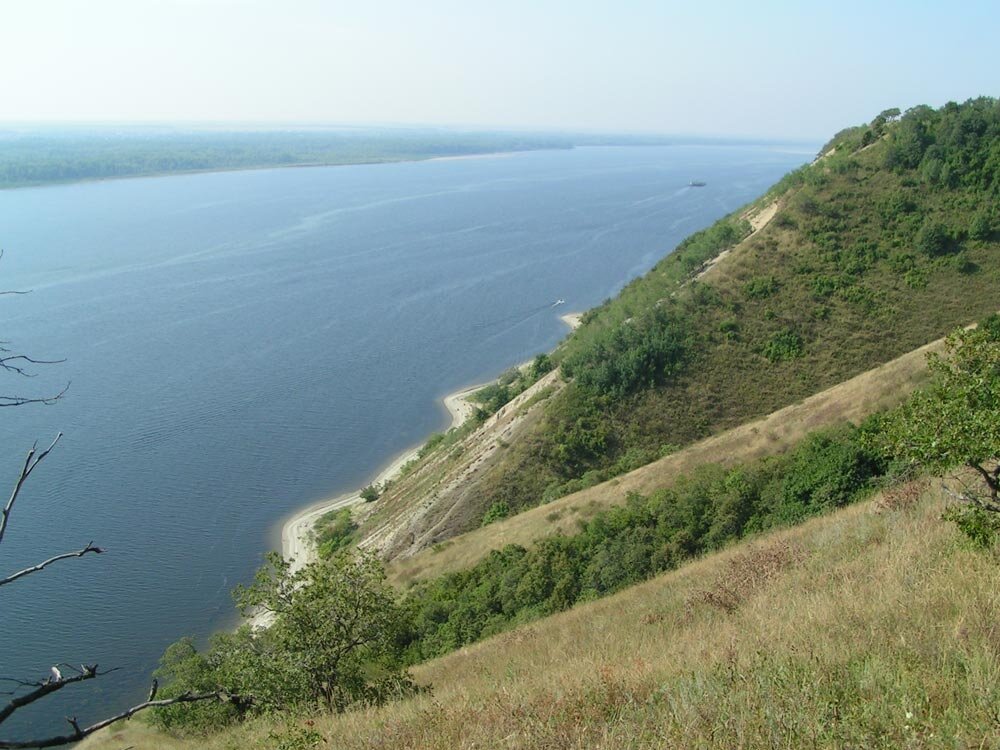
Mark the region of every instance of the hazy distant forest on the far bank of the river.
[[440, 129], [0, 129], [0, 188], [265, 167], [372, 164], [442, 156], [722, 141], [665, 136], [459, 132]]

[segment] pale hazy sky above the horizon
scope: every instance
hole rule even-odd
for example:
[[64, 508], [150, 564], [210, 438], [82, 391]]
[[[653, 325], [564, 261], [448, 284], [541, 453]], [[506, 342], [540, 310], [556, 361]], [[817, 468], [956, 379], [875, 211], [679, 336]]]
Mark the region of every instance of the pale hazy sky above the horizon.
[[1000, 93], [1000, 2], [0, 0], [0, 120], [825, 138]]

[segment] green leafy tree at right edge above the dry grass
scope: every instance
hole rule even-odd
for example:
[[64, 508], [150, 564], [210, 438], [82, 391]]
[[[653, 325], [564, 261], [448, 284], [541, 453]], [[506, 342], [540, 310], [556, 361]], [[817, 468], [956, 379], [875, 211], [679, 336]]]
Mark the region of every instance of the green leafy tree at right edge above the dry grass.
[[946, 356], [931, 354], [931, 384], [886, 421], [884, 447], [897, 458], [945, 472], [972, 469], [977, 486], [954, 493], [1000, 513], [1000, 339], [990, 319], [946, 339]]

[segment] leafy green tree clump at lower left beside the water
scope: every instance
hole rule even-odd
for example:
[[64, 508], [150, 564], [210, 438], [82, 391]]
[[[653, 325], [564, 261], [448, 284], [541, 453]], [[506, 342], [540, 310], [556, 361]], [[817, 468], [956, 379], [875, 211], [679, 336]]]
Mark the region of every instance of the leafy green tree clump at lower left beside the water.
[[[254, 583], [233, 596], [245, 617], [268, 612], [270, 624], [217, 634], [204, 653], [190, 640], [171, 646], [158, 672], [165, 696], [223, 686], [249, 698], [252, 713], [268, 713], [343, 711], [412, 691], [398, 658], [406, 612], [375, 557], [341, 553], [290, 573], [272, 553]], [[159, 711], [155, 720], [166, 729], [202, 731], [235, 718], [218, 705]]]

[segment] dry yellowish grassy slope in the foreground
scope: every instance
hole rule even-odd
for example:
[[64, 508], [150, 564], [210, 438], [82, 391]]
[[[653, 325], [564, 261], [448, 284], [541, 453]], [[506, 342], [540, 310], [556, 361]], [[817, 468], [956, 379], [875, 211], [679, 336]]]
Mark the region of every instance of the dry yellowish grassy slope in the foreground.
[[[313, 728], [338, 748], [996, 746], [995, 556], [937, 520], [936, 490], [877, 504], [429, 662], [432, 694]], [[87, 747], [272, 747], [274, 731], [125, 727]]]

